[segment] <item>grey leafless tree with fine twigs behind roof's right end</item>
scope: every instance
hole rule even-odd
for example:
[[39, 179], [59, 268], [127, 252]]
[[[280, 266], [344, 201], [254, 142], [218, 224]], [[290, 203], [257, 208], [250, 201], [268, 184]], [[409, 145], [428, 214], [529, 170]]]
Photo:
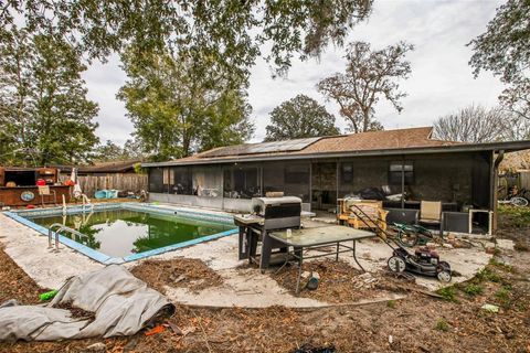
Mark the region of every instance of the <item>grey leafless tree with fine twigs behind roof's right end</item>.
[[442, 140], [459, 142], [501, 141], [509, 139], [511, 119], [501, 108], [470, 105], [438, 118], [434, 122], [434, 135]]

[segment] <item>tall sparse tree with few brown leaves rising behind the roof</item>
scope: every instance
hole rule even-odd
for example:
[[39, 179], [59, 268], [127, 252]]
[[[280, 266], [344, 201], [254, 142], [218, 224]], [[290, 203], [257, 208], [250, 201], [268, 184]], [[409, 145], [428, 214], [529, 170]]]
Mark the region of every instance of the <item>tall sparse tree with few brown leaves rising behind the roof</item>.
[[328, 99], [340, 106], [340, 115], [354, 132], [382, 128], [374, 119], [375, 105], [383, 98], [401, 113], [401, 98], [406, 94], [399, 90], [399, 81], [411, 74], [411, 63], [405, 54], [414, 46], [405, 42], [383, 50], [371, 51], [370, 44], [349, 44], [346, 58], [346, 73], [337, 73], [322, 79], [317, 88]]

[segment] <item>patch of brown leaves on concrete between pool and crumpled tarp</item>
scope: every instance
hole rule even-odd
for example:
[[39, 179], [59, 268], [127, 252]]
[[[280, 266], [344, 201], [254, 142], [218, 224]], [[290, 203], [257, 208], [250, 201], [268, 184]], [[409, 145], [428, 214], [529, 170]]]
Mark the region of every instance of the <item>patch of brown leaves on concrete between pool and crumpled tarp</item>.
[[161, 293], [166, 293], [166, 286], [201, 291], [223, 284], [223, 278], [218, 272], [194, 258], [145, 260], [130, 271]]

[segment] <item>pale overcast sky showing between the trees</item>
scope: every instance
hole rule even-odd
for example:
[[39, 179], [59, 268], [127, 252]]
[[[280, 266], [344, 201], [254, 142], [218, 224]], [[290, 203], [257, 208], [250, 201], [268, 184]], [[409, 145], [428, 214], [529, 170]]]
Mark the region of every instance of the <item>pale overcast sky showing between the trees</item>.
[[[474, 78], [468, 65], [471, 52], [466, 44], [483, 33], [502, 1], [435, 1], [435, 0], [375, 0], [373, 13], [353, 29], [350, 41], [362, 40], [372, 49], [382, 49], [401, 40], [415, 45], [407, 55], [412, 76], [401, 87], [409, 94], [403, 99], [403, 111], [398, 114], [384, 103], [375, 108], [377, 118], [385, 129], [430, 126], [439, 116], [469, 104], [491, 107], [502, 86], [498, 78], [481, 73]], [[271, 78], [267, 64], [258, 61], [252, 68], [250, 103], [256, 131], [252, 141], [265, 137], [268, 113], [297, 94], [306, 94], [326, 105], [335, 114], [342, 131], [346, 121], [333, 101], [325, 101], [316, 84], [336, 72], [344, 69], [344, 51], [329, 47], [319, 61], [293, 63], [286, 78]], [[124, 143], [134, 128], [126, 117], [124, 104], [116, 93], [126, 75], [116, 56], [107, 64], [94, 63], [84, 78], [91, 99], [99, 104], [97, 135], [102, 139]]]

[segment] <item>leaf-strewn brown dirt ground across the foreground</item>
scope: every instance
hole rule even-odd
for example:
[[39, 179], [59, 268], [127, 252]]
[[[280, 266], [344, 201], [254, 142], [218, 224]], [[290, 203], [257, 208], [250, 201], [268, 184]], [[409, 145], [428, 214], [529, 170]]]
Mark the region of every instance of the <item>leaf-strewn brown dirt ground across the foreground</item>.
[[[516, 227], [509, 220], [500, 224], [502, 237], [520, 243], [521, 249], [530, 245], [530, 224]], [[36, 302], [43, 289], [3, 252], [0, 261], [0, 300]], [[410, 288], [404, 279], [394, 281], [400, 286], [384, 289]], [[87, 346], [99, 342], [105, 344], [102, 352], [295, 352], [303, 344], [337, 352], [530, 352], [529, 252], [502, 250], [476, 278], [439, 295], [443, 298], [410, 290], [402, 300], [316, 310], [178, 306], [158, 334], [18, 342], [1, 344], [0, 352], [88, 352]], [[485, 311], [485, 303], [498, 306], [499, 312]]]

